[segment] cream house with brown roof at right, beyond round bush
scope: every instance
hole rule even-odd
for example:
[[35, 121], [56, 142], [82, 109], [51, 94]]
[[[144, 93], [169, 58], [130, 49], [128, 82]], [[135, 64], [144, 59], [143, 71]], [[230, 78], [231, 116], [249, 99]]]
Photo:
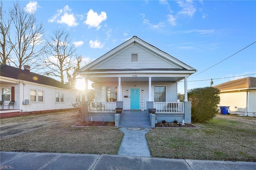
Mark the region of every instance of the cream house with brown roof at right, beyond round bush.
[[214, 86], [220, 89], [220, 106], [230, 114], [256, 117], [256, 77], [246, 77]]

